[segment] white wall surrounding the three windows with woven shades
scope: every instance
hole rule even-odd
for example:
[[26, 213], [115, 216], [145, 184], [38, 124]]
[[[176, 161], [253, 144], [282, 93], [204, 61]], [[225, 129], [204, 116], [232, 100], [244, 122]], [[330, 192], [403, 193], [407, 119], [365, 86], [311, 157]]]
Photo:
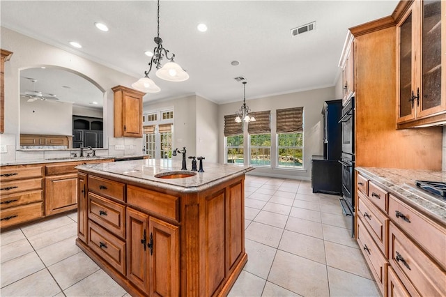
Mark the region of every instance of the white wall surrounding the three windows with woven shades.
[[[335, 96], [335, 88], [316, 89], [311, 91], [302, 91], [298, 93], [289, 93], [278, 96], [270, 96], [266, 98], [259, 98], [255, 100], [247, 100], [247, 105], [252, 109], [252, 112], [260, 112], [263, 110], [270, 110], [272, 119], [275, 119], [276, 109], [289, 107], [304, 107], [304, 168], [302, 170], [291, 169], [267, 169], [257, 167], [252, 174], [277, 176], [285, 178], [300, 178], [305, 180], [311, 179], [311, 160], [312, 155], [322, 155], [322, 107], [323, 102], [327, 100], [337, 99]], [[224, 116], [227, 114], [234, 114], [241, 106], [242, 102], [228, 103], [219, 106], [219, 139], [220, 150], [219, 160], [224, 162]], [[275, 122], [273, 121], [271, 129], [275, 129]]]

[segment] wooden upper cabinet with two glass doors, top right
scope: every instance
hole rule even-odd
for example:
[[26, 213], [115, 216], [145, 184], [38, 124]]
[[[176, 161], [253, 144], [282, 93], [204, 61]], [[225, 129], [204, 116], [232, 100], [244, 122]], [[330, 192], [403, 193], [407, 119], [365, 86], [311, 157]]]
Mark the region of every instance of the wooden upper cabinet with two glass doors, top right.
[[413, 1], [397, 24], [398, 128], [446, 123], [446, 1]]

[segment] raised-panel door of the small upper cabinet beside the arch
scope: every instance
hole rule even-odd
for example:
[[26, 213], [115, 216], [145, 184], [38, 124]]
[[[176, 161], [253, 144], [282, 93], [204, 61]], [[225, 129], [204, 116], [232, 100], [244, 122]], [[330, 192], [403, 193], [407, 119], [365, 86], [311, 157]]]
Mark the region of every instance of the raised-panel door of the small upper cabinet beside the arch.
[[142, 137], [142, 98], [124, 93], [123, 136]]

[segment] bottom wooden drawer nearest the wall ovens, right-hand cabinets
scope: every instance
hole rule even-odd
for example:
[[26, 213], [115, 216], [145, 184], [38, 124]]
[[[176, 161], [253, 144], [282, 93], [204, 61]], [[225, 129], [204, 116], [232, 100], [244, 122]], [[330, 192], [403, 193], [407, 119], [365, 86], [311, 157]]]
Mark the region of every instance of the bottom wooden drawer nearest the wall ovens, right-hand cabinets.
[[360, 245], [362, 254], [369, 264], [371, 272], [374, 274], [376, 284], [384, 296], [385, 287], [385, 272], [387, 271], [388, 262], [380, 252], [378, 246], [371, 239], [369, 232], [362, 223], [362, 220], [357, 220], [357, 243]]

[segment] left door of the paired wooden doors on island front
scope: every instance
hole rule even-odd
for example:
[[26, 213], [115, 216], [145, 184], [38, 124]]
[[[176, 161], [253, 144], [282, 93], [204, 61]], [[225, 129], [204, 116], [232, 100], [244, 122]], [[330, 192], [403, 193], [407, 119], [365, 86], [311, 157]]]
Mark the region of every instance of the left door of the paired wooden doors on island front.
[[150, 234], [148, 215], [127, 208], [127, 277], [132, 284], [148, 294], [148, 257]]

